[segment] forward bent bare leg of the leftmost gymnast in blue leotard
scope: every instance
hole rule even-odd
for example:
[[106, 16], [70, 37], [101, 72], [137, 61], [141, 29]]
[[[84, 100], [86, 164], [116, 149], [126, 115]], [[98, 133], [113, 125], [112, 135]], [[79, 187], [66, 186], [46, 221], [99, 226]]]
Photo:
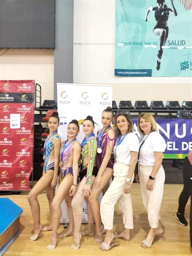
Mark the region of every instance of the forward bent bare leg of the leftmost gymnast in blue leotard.
[[52, 170], [48, 170], [46, 174], [43, 172], [41, 179], [38, 180], [38, 182], [34, 185], [33, 189], [28, 194], [28, 201], [34, 220], [34, 235], [30, 238], [31, 240], [36, 240], [39, 232], [43, 228], [43, 225], [40, 222], [40, 206], [37, 200], [37, 196], [51, 185], [52, 179]]

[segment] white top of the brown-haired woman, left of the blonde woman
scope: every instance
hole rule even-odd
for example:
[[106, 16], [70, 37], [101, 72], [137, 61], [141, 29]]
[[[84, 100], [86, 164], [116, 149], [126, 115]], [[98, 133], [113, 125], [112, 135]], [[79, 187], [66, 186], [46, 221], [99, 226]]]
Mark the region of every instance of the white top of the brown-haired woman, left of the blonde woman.
[[119, 146], [116, 145], [117, 142], [114, 146], [114, 153], [116, 150], [116, 159], [120, 163], [130, 164], [130, 151], [139, 151], [139, 139], [137, 135], [132, 132], [126, 135], [126, 137]]

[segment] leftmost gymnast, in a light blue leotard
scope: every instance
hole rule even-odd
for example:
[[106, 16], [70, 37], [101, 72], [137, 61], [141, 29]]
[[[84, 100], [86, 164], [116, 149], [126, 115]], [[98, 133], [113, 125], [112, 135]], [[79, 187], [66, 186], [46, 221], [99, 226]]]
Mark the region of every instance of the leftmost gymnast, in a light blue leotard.
[[49, 210], [51, 213], [51, 203], [55, 196], [55, 186], [57, 184], [58, 170], [59, 170], [59, 157], [61, 138], [57, 133], [59, 127], [58, 112], [53, 112], [48, 121], [49, 136], [45, 141], [44, 155], [45, 160], [43, 168], [43, 176], [34, 185], [33, 189], [28, 194], [28, 201], [30, 203], [31, 212], [34, 220], [34, 234], [30, 237], [31, 240], [36, 240], [41, 231], [52, 229], [52, 222], [43, 228], [40, 222], [40, 207], [37, 196], [44, 190], [46, 191], [47, 199], [49, 201]]

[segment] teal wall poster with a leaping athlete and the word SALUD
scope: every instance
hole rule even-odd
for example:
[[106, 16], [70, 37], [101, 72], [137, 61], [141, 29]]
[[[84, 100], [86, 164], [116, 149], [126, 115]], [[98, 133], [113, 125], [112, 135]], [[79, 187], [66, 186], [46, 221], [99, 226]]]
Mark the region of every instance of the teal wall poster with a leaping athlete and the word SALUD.
[[191, 0], [116, 0], [115, 75], [190, 77]]

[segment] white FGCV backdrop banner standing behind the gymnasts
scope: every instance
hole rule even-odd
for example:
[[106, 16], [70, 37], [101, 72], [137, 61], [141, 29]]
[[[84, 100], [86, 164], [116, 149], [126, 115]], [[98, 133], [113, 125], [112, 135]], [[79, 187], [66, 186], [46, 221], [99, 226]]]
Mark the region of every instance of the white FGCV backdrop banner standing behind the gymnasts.
[[[82, 131], [83, 120], [89, 115], [93, 117], [95, 123], [94, 133], [102, 128], [101, 114], [108, 106], [112, 105], [112, 86], [106, 85], [86, 85], [86, 84], [57, 84], [58, 113], [60, 117], [60, 127], [58, 133], [63, 140], [67, 139], [67, 125], [76, 119], [80, 126], [77, 140], [80, 144], [85, 137]], [[98, 196], [100, 201], [102, 193]], [[65, 202], [62, 202], [61, 223], [68, 223], [68, 213]], [[83, 223], [87, 222], [87, 206], [83, 200], [81, 204], [83, 212]]]

